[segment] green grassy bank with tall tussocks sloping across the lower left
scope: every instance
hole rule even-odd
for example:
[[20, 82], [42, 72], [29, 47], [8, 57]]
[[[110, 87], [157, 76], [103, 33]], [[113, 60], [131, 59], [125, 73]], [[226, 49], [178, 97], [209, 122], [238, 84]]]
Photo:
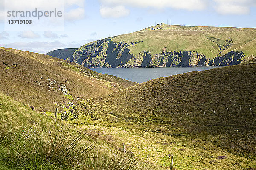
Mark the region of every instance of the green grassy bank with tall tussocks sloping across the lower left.
[[0, 170], [158, 170], [0, 92]]

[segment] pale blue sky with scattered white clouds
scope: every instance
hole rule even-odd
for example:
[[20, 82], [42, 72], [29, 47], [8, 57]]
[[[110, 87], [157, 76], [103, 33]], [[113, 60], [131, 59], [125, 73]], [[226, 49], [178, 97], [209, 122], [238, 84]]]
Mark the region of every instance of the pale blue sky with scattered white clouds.
[[[12, 2], [13, 1], [13, 2]], [[63, 20], [35, 20], [37, 27], [8, 24], [6, 10], [63, 12]], [[168, 23], [189, 26], [255, 28], [256, 0], [0, 0], [0, 46], [42, 54], [60, 48], [79, 48], [89, 42]], [[7, 18], [7, 20], [6, 20]], [[29, 18], [28, 18], [29, 19]], [[34, 20], [32, 20], [34, 22]], [[34, 23], [35, 24], [35, 23]], [[12, 29], [13, 28], [13, 29]], [[56, 29], [55, 29], [56, 28]], [[60, 29], [57, 29], [60, 28]]]

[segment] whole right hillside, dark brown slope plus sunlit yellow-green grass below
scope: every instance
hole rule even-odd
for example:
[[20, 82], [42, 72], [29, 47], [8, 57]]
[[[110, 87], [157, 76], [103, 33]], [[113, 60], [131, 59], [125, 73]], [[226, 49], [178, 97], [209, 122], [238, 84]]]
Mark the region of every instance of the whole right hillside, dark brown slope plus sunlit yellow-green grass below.
[[255, 168], [255, 78], [256, 60], [162, 77], [79, 102], [69, 119], [163, 166], [175, 154], [182, 170]]

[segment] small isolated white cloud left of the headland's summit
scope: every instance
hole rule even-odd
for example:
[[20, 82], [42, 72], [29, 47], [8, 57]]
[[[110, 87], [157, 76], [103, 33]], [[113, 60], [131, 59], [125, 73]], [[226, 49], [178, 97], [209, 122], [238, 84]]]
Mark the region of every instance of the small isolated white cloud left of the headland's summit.
[[101, 6], [99, 13], [104, 18], [120, 18], [128, 16], [130, 11], [122, 5], [113, 7]]

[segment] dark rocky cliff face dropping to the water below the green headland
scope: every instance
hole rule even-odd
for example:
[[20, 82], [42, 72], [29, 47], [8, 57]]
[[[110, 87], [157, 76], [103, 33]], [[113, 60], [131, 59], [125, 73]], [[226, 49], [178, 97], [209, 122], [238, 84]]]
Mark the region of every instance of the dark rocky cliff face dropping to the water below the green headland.
[[140, 51], [134, 55], [127, 48], [139, 42], [113, 42], [106, 38], [84, 45], [73, 53], [73, 62], [85, 67], [99, 68], [132, 68], [132, 67], [174, 67], [201, 65], [236, 65], [241, 63], [243, 52], [230, 51], [224, 56], [217, 56], [212, 60], [197, 51], [163, 50], [152, 55], [149, 51]]

